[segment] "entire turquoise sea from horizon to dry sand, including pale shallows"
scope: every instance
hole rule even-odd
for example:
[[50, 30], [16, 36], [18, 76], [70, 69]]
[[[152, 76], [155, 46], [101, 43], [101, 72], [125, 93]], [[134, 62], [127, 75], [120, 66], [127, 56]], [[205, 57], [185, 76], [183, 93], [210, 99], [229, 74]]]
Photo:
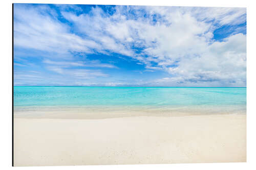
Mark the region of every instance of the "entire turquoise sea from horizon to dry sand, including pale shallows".
[[246, 114], [246, 88], [14, 87], [14, 114], [27, 111]]

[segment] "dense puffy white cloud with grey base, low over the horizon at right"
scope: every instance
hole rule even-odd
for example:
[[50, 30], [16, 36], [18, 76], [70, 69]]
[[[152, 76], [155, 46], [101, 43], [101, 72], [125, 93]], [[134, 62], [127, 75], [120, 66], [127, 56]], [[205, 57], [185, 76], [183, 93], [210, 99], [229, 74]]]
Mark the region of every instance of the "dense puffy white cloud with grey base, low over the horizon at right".
[[[168, 71], [175, 78], [163, 79], [173, 84], [218, 84], [222, 86], [246, 85], [246, 36], [233, 35], [223, 42], [210, 44], [198, 57], [181, 58], [178, 67]], [[216, 82], [216, 83], [212, 83]]]

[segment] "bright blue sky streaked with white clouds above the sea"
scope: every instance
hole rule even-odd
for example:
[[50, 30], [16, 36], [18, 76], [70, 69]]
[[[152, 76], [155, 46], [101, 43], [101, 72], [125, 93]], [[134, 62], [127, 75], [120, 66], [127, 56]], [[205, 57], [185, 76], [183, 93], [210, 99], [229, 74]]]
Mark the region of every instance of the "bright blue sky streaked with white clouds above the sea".
[[246, 9], [14, 4], [14, 85], [246, 87]]

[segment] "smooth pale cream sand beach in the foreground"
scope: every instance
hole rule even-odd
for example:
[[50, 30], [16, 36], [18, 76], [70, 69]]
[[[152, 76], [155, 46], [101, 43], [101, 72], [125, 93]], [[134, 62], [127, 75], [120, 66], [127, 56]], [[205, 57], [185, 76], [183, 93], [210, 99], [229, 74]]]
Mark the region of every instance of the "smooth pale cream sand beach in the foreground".
[[14, 166], [246, 161], [246, 115], [14, 118]]

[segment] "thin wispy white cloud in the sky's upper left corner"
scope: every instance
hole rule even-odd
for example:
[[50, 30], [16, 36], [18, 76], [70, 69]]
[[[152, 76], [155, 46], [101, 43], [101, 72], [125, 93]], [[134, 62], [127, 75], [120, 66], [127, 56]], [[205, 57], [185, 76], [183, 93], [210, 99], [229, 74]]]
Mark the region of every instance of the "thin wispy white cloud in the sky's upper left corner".
[[[44, 9], [42, 9], [44, 7]], [[65, 54], [92, 53], [98, 44], [70, 33], [69, 26], [50, 16], [48, 6], [14, 5], [14, 45], [35, 50]]]

